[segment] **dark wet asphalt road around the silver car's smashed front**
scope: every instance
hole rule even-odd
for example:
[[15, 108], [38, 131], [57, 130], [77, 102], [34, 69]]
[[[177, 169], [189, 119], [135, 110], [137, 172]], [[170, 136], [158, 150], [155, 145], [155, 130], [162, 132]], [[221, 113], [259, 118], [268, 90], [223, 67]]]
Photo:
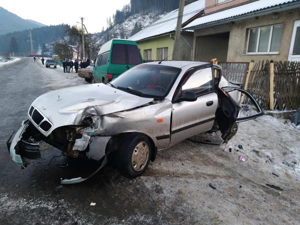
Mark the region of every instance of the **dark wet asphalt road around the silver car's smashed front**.
[[53, 89], [88, 84], [74, 72], [46, 68], [32, 58], [0, 68], [0, 208], [9, 208], [0, 210], [0, 224], [161, 224], [147, 188], [135, 188], [143, 184], [122, 177], [114, 168], [104, 167], [85, 182], [57, 189], [61, 178], [85, 177], [98, 165], [64, 157], [47, 165], [53, 155], [60, 155], [48, 145], [43, 146], [43, 160], [24, 170], [10, 159], [6, 141], [27, 119], [35, 98]]

